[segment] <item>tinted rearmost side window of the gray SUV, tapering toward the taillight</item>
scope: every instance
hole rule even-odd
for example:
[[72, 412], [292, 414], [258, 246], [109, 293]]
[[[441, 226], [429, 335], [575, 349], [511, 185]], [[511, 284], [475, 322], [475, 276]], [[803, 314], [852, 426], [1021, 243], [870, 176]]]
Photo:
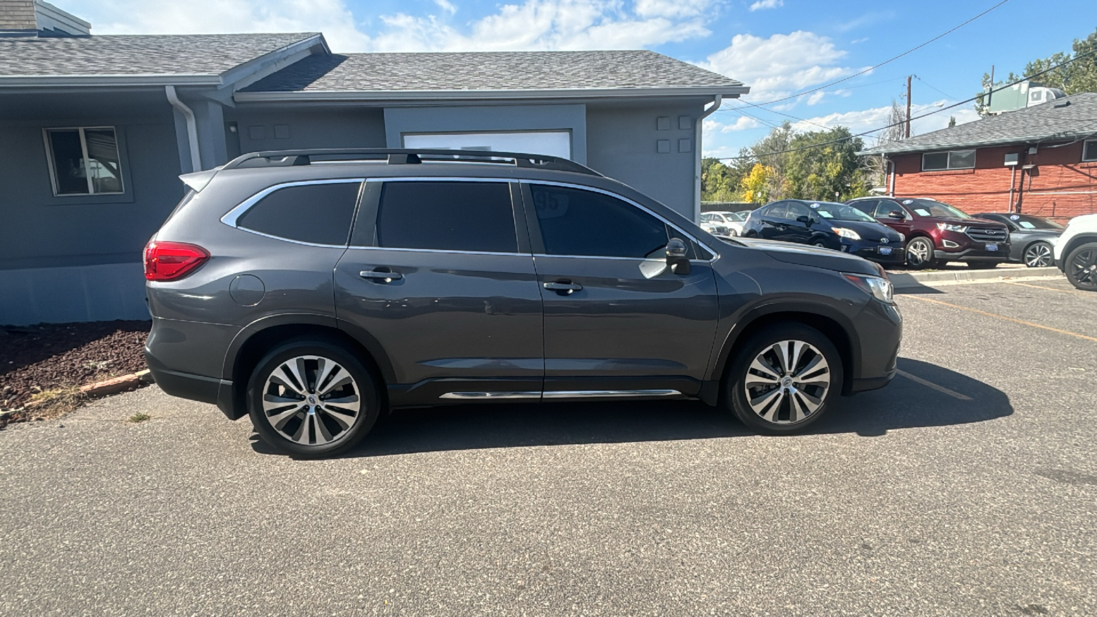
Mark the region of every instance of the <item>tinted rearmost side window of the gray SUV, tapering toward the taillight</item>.
[[360, 186], [354, 181], [278, 189], [240, 215], [237, 226], [291, 240], [342, 246]]

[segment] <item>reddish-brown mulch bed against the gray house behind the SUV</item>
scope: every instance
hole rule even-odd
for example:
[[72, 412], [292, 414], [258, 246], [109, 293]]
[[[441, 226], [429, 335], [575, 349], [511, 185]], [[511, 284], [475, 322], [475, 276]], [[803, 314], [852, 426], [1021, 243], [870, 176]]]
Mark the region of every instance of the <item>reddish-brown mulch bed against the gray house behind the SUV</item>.
[[151, 322], [0, 326], [0, 412], [43, 391], [145, 369]]

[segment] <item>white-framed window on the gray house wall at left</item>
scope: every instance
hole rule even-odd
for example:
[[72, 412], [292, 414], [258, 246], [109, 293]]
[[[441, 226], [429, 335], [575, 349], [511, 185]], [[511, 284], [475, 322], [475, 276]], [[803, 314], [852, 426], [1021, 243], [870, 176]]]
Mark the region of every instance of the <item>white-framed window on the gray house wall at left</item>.
[[124, 192], [113, 126], [46, 128], [44, 133], [55, 195]]

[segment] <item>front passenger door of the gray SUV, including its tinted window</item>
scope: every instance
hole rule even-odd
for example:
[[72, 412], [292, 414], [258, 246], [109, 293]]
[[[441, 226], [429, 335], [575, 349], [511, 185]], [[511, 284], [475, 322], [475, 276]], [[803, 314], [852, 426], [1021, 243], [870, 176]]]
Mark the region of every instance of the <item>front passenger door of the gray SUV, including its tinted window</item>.
[[[713, 255], [608, 191], [523, 181], [522, 194], [544, 299], [545, 399], [695, 394], [717, 319]], [[671, 237], [694, 257], [688, 273], [667, 267]]]

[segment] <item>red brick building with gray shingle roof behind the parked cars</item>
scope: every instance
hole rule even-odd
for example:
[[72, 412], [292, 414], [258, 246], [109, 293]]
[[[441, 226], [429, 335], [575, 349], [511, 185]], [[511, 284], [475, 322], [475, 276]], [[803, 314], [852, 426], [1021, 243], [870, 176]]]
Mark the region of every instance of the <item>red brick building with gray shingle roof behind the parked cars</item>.
[[968, 212], [1065, 221], [1097, 212], [1097, 92], [881, 144], [887, 192]]

